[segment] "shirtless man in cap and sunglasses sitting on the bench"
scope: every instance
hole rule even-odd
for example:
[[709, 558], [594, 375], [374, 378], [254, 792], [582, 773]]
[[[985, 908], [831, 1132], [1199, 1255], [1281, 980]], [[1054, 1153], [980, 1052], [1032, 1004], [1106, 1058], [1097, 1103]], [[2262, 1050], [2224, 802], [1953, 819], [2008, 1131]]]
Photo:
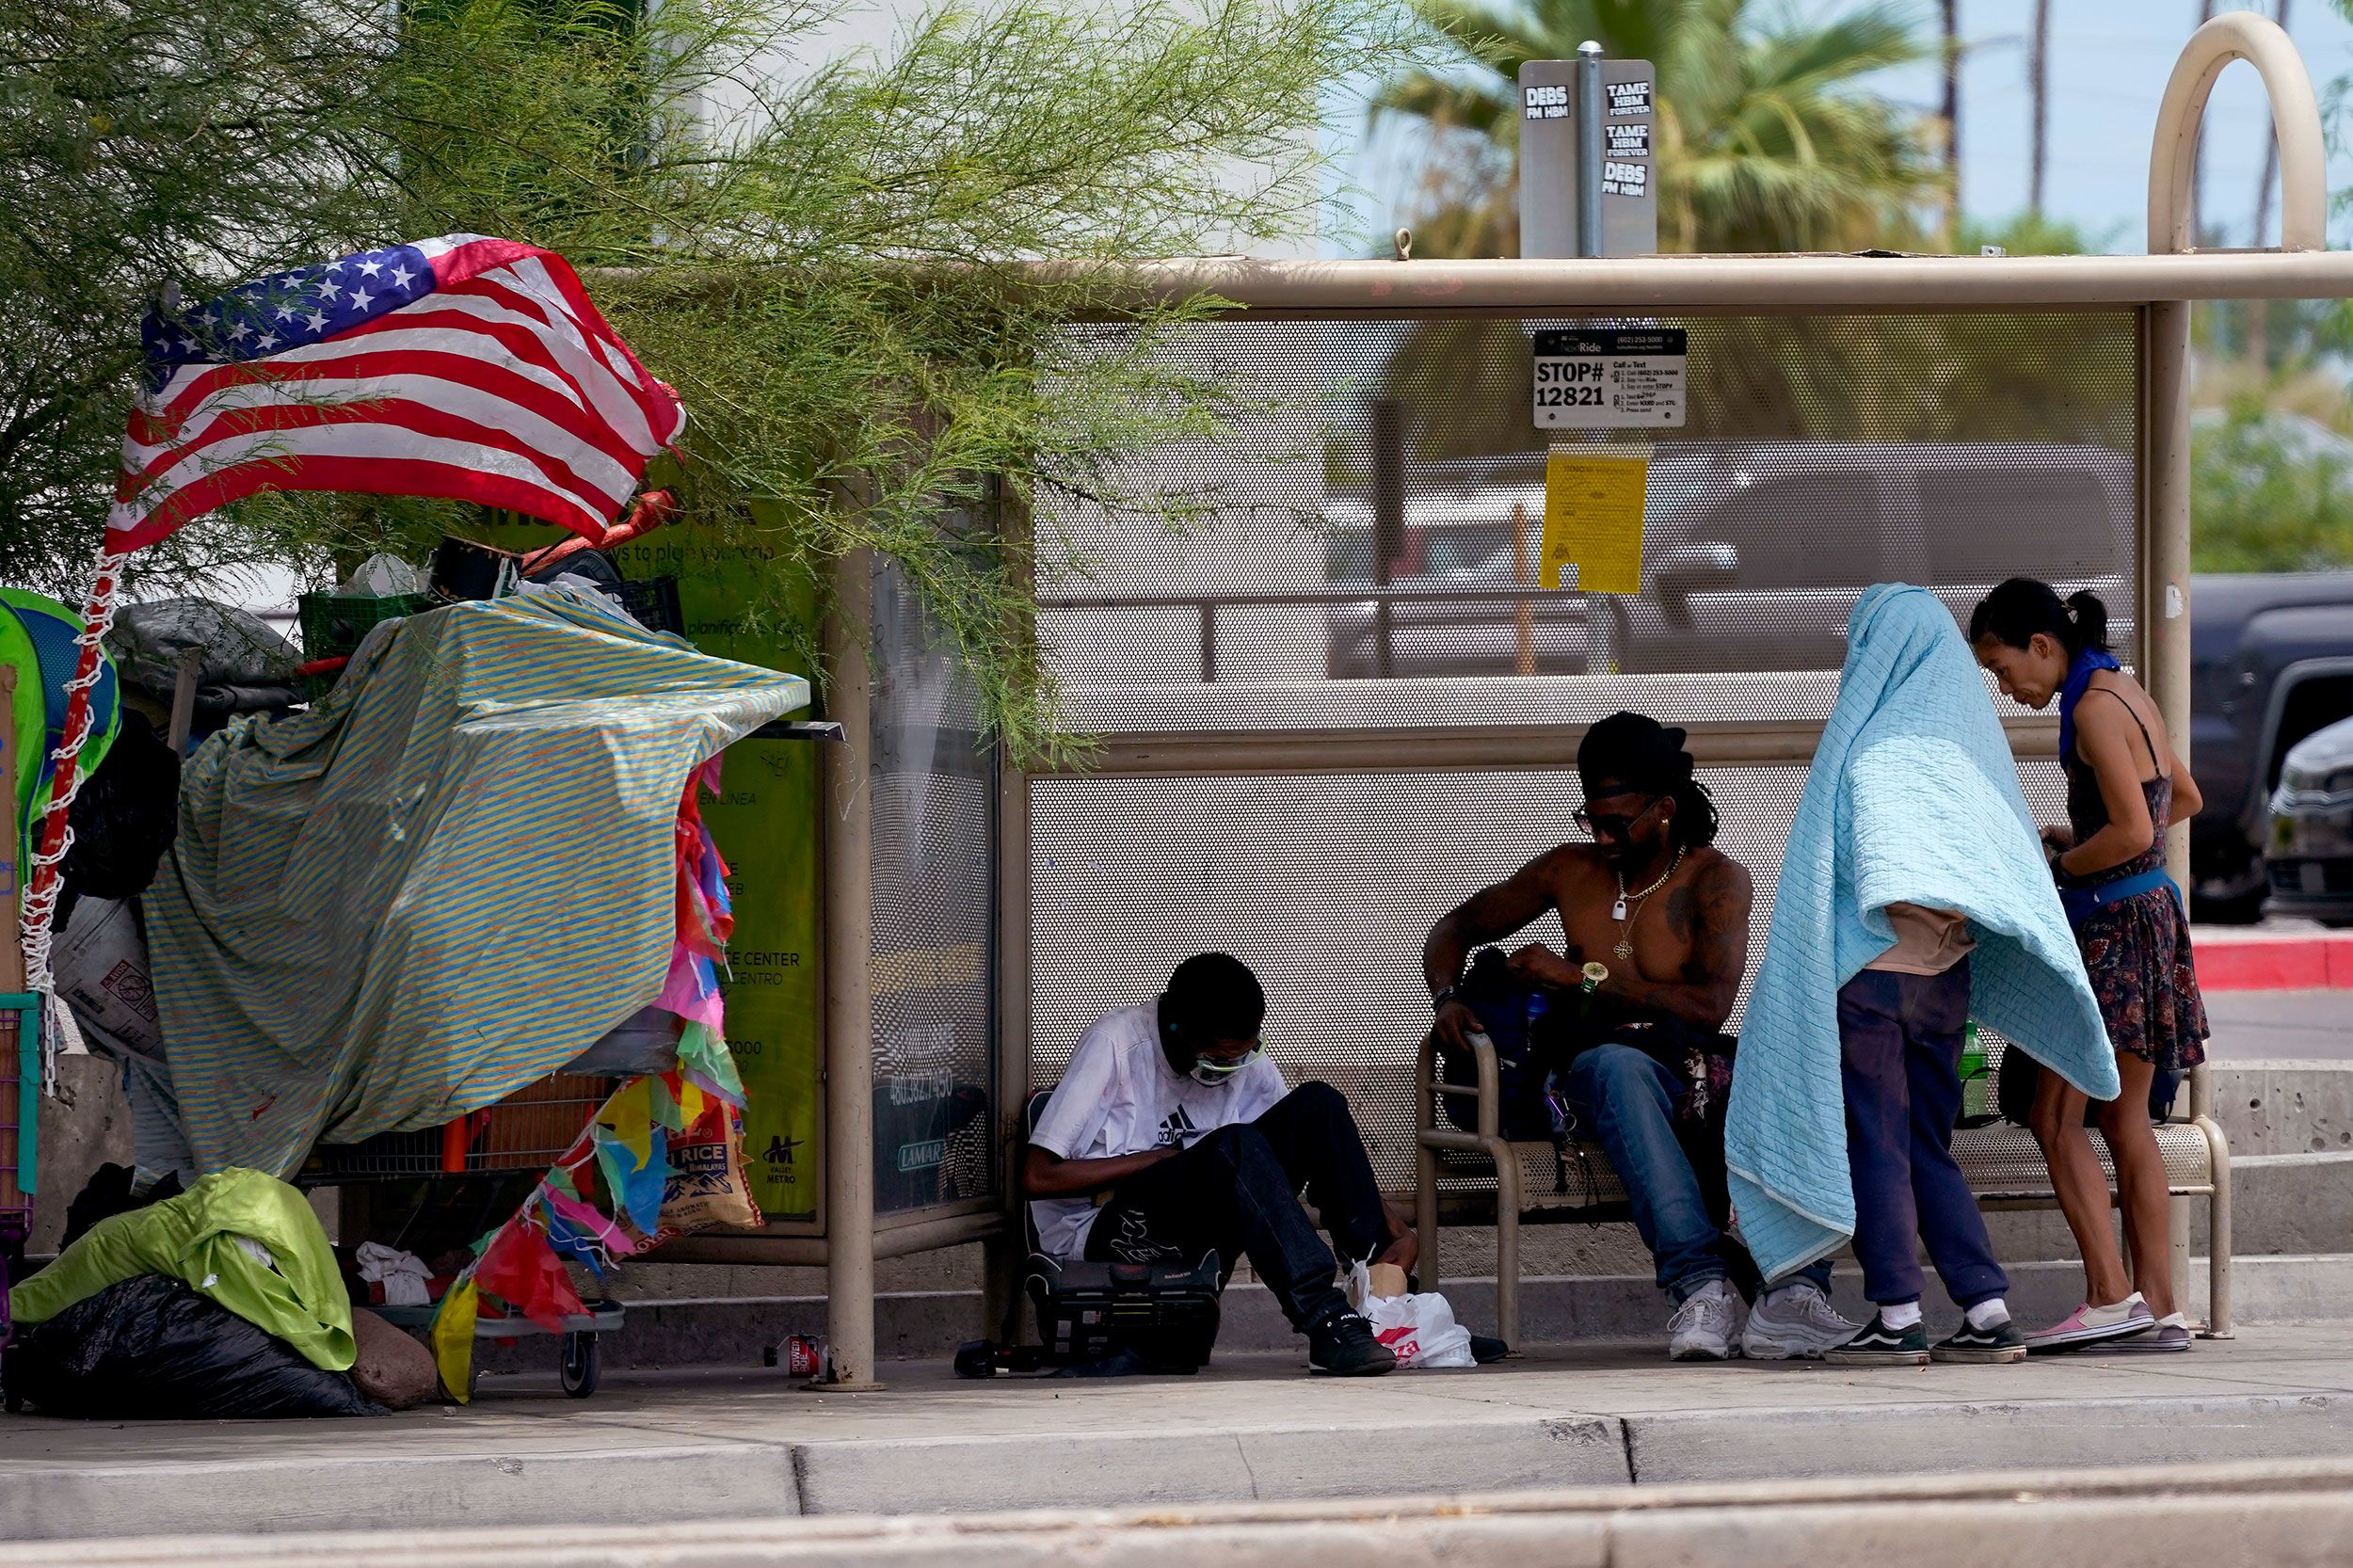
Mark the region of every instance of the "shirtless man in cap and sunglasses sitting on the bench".
[[1635, 1229], [1673, 1302], [1668, 1354], [1819, 1356], [1854, 1337], [1854, 1326], [1831, 1311], [1831, 1264], [1765, 1288], [1744, 1328], [1741, 1295], [1758, 1281], [1748, 1255], [1725, 1236], [1722, 1132], [1713, 1123], [1682, 1123], [1678, 1132], [1689, 1083], [1668, 1062], [1682, 1059], [1682, 1041], [1704, 1041], [1732, 1017], [1748, 968], [1748, 869], [1711, 848], [1715, 803], [1692, 777], [1682, 730], [1614, 713], [1586, 730], [1577, 775], [1586, 791], [1577, 826], [1593, 843], [1539, 855], [1431, 930], [1421, 965], [1438, 1034], [1466, 1045], [1480, 1029], [1454, 996], [1471, 951], [1558, 911], [1567, 954], [1527, 944], [1511, 956], [1511, 972], [1577, 991], [1586, 963], [1609, 970], [1595, 998], [1621, 1038], [1579, 1050], [1560, 1088], [1626, 1182]]

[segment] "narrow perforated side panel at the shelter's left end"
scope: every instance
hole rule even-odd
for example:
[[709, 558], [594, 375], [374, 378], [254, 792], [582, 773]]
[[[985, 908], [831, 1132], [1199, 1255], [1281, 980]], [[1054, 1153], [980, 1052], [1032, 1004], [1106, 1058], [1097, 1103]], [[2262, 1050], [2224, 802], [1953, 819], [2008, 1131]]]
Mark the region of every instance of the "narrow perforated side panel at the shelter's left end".
[[873, 598], [875, 1210], [995, 1191], [995, 760], [892, 570]]

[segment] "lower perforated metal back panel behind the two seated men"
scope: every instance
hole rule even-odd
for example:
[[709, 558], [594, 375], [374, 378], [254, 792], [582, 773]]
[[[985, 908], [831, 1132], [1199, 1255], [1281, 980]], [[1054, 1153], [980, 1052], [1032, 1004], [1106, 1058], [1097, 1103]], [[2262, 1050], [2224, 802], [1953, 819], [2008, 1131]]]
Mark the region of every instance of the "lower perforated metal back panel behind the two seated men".
[[[1753, 977], [1805, 770], [1701, 777], [1718, 848], [1755, 878]], [[2057, 763], [2024, 779], [2042, 822], [2066, 815]], [[1031, 1081], [1054, 1083], [1096, 1017], [1155, 996], [1181, 958], [1228, 951], [1266, 984], [1282, 1076], [1348, 1095], [1381, 1184], [1412, 1187], [1412, 1064], [1431, 1026], [1421, 942], [1482, 885], [1574, 841], [1579, 798], [1565, 772], [1035, 782]], [[1518, 942], [1558, 949], [1560, 921]]]

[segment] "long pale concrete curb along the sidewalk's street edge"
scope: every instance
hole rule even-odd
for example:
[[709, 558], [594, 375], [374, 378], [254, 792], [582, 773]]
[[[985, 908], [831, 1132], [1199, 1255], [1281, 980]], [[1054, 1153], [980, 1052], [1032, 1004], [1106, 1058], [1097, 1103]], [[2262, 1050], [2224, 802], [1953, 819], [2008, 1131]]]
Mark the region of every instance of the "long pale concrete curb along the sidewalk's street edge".
[[[551, 1422], [553, 1424], [553, 1422]], [[574, 1436], [588, 1436], [574, 1431]], [[1433, 1441], [1440, 1439], [1440, 1441]], [[635, 1552], [598, 1556], [579, 1552], [555, 1563], [614, 1563], [614, 1568], [661, 1563], [713, 1563], [713, 1568], [751, 1568], [762, 1561], [798, 1561], [788, 1547], [798, 1528], [791, 1516], [852, 1519], [889, 1516], [885, 1530], [936, 1535], [946, 1547], [922, 1561], [936, 1568], [1009, 1568], [1012, 1563], [1125, 1561], [1122, 1554], [1061, 1552], [995, 1556], [986, 1519], [1007, 1509], [1153, 1509], [1162, 1526], [1174, 1509], [1233, 1509], [1252, 1504], [1306, 1504], [1308, 1509], [1369, 1511], [1372, 1523], [1388, 1528], [1400, 1511], [1393, 1500], [1407, 1495], [1489, 1495], [1489, 1509], [1518, 1511], [1537, 1497], [1551, 1497], [1555, 1509], [1588, 1511], [1593, 1507], [1652, 1509], [1678, 1502], [1673, 1488], [1729, 1493], [1727, 1483], [1760, 1483], [1765, 1495], [1798, 1497], [1809, 1486], [1831, 1481], [1857, 1488], [1854, 1476], [1882, 1474], [1889, 1460], [1925, 1471], [1939, 1481], [1913, 1481], [1915, 1488], [1965, 1490], [1972, 1474], [2059, 1469], [2061, 1488], [2097, 1483], [2087, 1467], [2129, 1467], [2125, 1476], [2146, 1486], [2167, 1476], [2167, 1464], [2193, 1467], [2184, 1476], [2205, 1476], [2233, 1462], [2289, 1462], [2308, 1476], [2325, 1476], [2334, 1507], [2327, 1542], [2308, 1542], [2311, 1554], [2188, 1554], [2144, 1556], [2144, 1561], [2181, 1563], [2334, 1563], [2341, 1544], [2353, 1540], [2353, 1500], [2344, 1488], [2344, 1455], [2353, 1446], [2353, 1401], [2344, 1394], [2280, 1391], [2231, 1396], [2162, 1398], [2059, 1398], [2059, 1401], [1979, 1401], [1962, 1406], [1868, 1406], [1760, 1408], [1760, 1410], [1678, 1410], [1649, 1415], [1581, 1415], [1522, 1408], [1482, 1415], [1471, 1422], [1447, 1422], [1433, 1431], [1426, 1417], [1409, 1422], [1374, 1420], [1365, 1424], [1301, 1422], [1297, 1427], [1242, 1427], [1233, 1431], [1200, 1429], [1071, 1429], [1042, 1441], [1007, 1441], [1005, 1436], [913, 1436], [849, 1441], [701, 1441], [666, 1448], [626, 1443], [626, 1431], [612, 1429], [600, 1443], [574, 1443], [569, 1453], [551, 1453], [529, 1439], [511, 1453], [416, 1453], [414, 1443], [395, 1443], [391, 1453], [346, 1453], [336, 1457], [304, 1455], [285, 1460], [167, 1460], [120, 1467], [9, 1467], [9, 1486], [0, 1488], [0, 1566], [14, 1563], [113, 1563], [118, 1568], [160, 1566], [174, 1559], [155, 1549], [155, 1535], [294, 1535], [318, 1530], [369, 1530], [360, 1556], [318, 1552], [296, 1540], [289, 1552], [254, 1547], [224, 1552], [200, 1561], [285, 1563], [287, 1568], [322, 1568], [325, 1563], [449, 1563], [452, 1568], [494, 1561], [468, 1540], [464, 1552], [395, 1552], [384, 1535], [428, 1519], [442, 1526], [532, 1526], [539, 1544], [548, 1530], [595, 1530], [624, 1537], [645, 1526], [668, 1526], [689, 1533], [696, 1523], [720, 1519], [769, 1519], [765, 1535], [779, 1547], [779, 1559], [734, 1552], [715, 1559], [675, 1554], [668, 1542]], [[2313, 1460], [2334, 1457], [2334, 1464]], [[2118, 1479], [2125, 1479], [2118, 1476]], [[2115, 1483], [2118, 1479], [2111, 1479]], [[1868, 1483], [1861, 1483], [1868, 1486]], [[1984, 1486], [1984, 1483], [1979, 1483]], [[1569, 1490], [1562, 1490], [1569, 1488]], [[1574, 1488], [1588, 1488], [1584, 1497]], [[1626, 1490], [1633, 1488], [1633, 1490]], [[1529, 1502], [1513, 1502], [1508, 1493]], [[2017, 1502], [2035, 1502], [2042, 1511], [2049, 1497], [2019, 1493]], [[1918, 1507], [1918, 1504], [1913, 1504]], [[1979, 1514], [1986, 1502], [1972, 1504]], [[2139, 1500], [2141, 1509], [2148, 1500]], [[1461, 1516], [1440, 1504], [1442, 1516]], [[2242, 1514], [2245, 1504], [2231, 1509]], [[962, 1514], [967, 1523], [925, 1523]], [[1744, 1521], [1753, 1523], [1753, 1521]], [[2115, 1528], [2118, 1521], [2111, 1521]], [[1560, 1530], [1562, 1521], [1548, 1521]], [[2146, 1530], [2141, 1519], [2139, 1528]], [[873, 1528], [873, 1526], [866, 1526]], [[840, 1535], [819, 1528], [824, 1540]], [[1920, 1533], [1908, 1511], [1894, 1511], [1882, 1530], [1908, 1544], [1901, 1559], [1908, 1568], [1972, 1568], [1986, 1561], [2075, 1561], [2078, 1554], [1974, 1554], [1977, 1535], [1960, 1530], [1946, 1540], [1955, 1547], [1944, 1556], [1920, 1556], [1920, 1547], [1941, 1533]], [[652, 1530], [656, 1535], [659, 1530]], [[1546, 1561], [1569, 1568], [1605, 1568], [1605, 1563], [1649, 1561], [1659, 1568], [1680, 1563], [1744, 1561], [1805, 1563], [1857, 1561], [1885, 1563], [1894, 1552], [1849, 1554], [1845, 1559], [1807, 1559], [1800, 1552], [1746, 1554], [1711, 1552], [1671, 1559], [1624, 1559], [1534, 1552], [1544, 1530], [1520, 1533], [1520, 1554], [1492, 1561], [1497, 1568]], [[1878, 1533], [1873, 1533], [1878, 1535]], [[1918, 1540], [1913, 1540], [1918, 1535]], [[2162, 1533], [2144, 1535], [2155, 1549]], [[113, 1537], [120, 1544], [104, 1544]], [[642, 1535], [640, 1535], [642, 1540]], [[2111, 1535], [2113, 1540], [2113, 1535]], [[42, 1547], [40, 1542], [52, 1542]], [[75, 1544], [80, 1542], [80, 1544]], [[520, 1537], [529, 1544], [532, 1537]], [[873, 1542], [866, 1542], [873, 1547]], [[960, 1549], [958, 1549], [960, 1544]], [[1365, 1561], [1365, 1542], [1355, 1556], [1235, 1556], [1202, 1552], [1198, 1540], [1179, 1540], [1186, 1552], [1151, 1559], [1155, 1566], [1191, 1568], [1217, 1561], [1289, 1563], [1292, 1568], [1355, 1568]], [[1882, 1540], [1885, 1544], [1885, 1540]], [[1960, 1552], [1958, 1547], [1969, 1547]], [[889, 1554], [856, 1556], [856, 1563], [894, 1563]], [[1447, 1552], [1402, 1552], [1381, 1561], [1464, 1563]], [[548, 1559], [527, 1559], [548, 1561]], [[842, 1561], [842, 1559], [824, 1559]]]

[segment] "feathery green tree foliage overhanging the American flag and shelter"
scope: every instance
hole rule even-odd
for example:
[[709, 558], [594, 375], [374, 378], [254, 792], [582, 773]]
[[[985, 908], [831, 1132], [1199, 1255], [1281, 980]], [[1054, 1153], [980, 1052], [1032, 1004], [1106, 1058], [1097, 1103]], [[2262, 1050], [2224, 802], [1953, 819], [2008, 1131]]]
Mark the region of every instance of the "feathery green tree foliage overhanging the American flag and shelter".
[[[56, 339], [42, 311], [73, 323], [47, 358], [0, 363], [0, 457], [28, 440], [19, 424], [49, 431], [42, 461], [0, 464], [0, 570], [54, 579], [96, 546], [132, 325], [158, 285], [200, 297], [360, 245], [499, 233], [581, 266], [678, 386], [687, 445], [656, 478], [781, 563], [772, 612], [826, 560], [873, 549], [965, 655], [986, 723], [1016, 751], [1056, 746], [1026, 603], [1033, 572], [1068, 563], [1033, 560], [1009, 518], [1075, 492], [1184, 527], [1186, 497], [1129, 494], [1118, 454], [1212, 436], [1228, 410], [1158, 353], [1202, 301], [1146, 313], [1120, 351], [1080, 351], [1064, 323], [1113, 285], [1009, 264], [1299, 233], [1320, 202], [1320, 89], [1412, 64], [1419, 31], [1388, 0], [995, 0], [809, 64], [847, 9], [409, 0], [372, 33], [367, 7], [308, 0], [0, 0], [0, 52], [19, 57], [0, 61], [0, 308], [16, 311], [0, 353]], [[120, 162], [120, 132], [42, 129], [96, 113], [85, 75], [153, 99], [144, 162]], [[19, 80], [40, 101], [9, 97]], [[31, 177], [75, 170], [64, 205]], [[127, 184], [153, 195], [125, 205]], [[367, 549], [416, 558], [478, 523], [266, 497], [186, 530], [153, 570], [259, 553], [322, 572]]]

